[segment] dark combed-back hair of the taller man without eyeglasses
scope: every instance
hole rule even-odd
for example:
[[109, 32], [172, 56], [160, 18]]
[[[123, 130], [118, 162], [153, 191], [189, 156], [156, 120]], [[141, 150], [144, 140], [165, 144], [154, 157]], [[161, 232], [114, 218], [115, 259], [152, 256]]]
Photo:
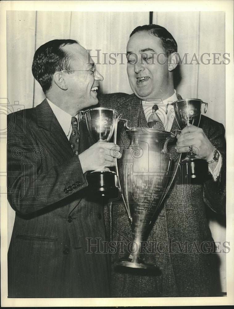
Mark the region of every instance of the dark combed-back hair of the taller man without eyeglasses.
[[154, 36], [157, 36], [158, 38], [161, 39], [162, 48], [164, 49], [167, 57], [169, 57], [171, 53], [177, 52], [176, 40], [173, 38], [170, 32], [167, 31], [167, 29], [159, 25], [150, 24], [136, 27], [130, 34], [130, 37], [136, 32], [144, 32], [144, 31]]

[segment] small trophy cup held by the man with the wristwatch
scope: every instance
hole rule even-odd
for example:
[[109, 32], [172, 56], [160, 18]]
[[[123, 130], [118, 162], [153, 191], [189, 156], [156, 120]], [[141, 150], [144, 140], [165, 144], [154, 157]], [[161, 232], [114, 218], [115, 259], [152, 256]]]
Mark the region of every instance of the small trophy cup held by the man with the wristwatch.
[[[172, 103], [175, 111], [175, 117], [180, 130], [184, 129], [187, 125], [199, 126], [202, 114], [202, 104], [204, 106], [204, 113], [207, 112], [207, 103], [200, 99], [185, 99], [178, 100]], [[168, 109], [167, 104], [167, 109]], [[166, 110], [167, 113], [167, 110]], [[187, 176], [192, 182], [201, 182], [208, 177], [208, 163], [203, 159], [196, 159], [198, 150], [192, 146], [187, 157], [183, 160], [187, 164]]]

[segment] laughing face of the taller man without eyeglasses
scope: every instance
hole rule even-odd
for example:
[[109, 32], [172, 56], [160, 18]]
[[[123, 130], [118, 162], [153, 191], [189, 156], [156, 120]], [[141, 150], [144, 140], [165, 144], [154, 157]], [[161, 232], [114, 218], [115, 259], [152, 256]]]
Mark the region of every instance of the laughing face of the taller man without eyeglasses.
[[[175, 51], [176, 46], [170, 45], [171, 51]], [[172, 70], [176, 66], [176, 58], [170, 53], [168, 65], [168, 55], [159, 37], [145, 35], [145, 32], [137, 32], [130, 37], [127, 43], [127, 75], [132, 91], [138, 98], [159, 97], [164, 100], [173, 95]]]

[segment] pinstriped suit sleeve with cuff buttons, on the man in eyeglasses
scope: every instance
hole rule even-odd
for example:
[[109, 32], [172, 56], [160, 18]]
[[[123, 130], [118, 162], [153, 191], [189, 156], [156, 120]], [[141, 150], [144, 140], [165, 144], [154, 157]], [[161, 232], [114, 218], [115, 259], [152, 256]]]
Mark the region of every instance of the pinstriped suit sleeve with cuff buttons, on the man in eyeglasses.
[[60, 201], [87, 187], [79, 158], [61, 164], [48, 159], [49, 154], [40, 151], [43, 146], [36, 142], [35, 132], [22, 123], [15, 124], [13, 135], [7, 142], [7, 197], [16, 212], [29, 214], [55, 203], [62, 205]]

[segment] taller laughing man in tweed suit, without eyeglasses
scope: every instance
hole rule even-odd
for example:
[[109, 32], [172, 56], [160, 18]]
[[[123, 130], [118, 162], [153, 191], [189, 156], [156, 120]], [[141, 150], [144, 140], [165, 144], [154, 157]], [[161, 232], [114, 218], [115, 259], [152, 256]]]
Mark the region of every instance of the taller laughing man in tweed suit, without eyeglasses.
[[[179, 129], [172, 108], [166, 106], [178, 99], [173, 84], [177, 66], [177, 43], [158, 25], [133, 30], [127, 43], [127, 74], [134, 92], [100, 95], [101, 106], [115, 108], [131, 127], [148, 127], [161, 131]], [[117, 143], [130, 145], [125, 129], [119, 126]], [[192, 145], [199, 150], [197, 158], [209, 165], [209, 179], [192, 184], [179, 174], [169, 197], [161, 207], [145, 247], [145, 257], [159, 267], [158, 273], [135, 268], [114, 269], [123, 257], [121, 247], [112, 255], [111, 290], [114, 297], [194, 297], [219, 296], [219, 262], [207, 223], [207, 211], [225, 215], [226, 142], [224, 126], [202, 115], [199, 128], [187, 126], [177, 136], [177, 150], [185, 156]], [[158, 160], [159, 158], [155, 158]], [[146, 174], [147, 176], [147, 174]], [[182, 181], [185, 180], [185, 181]], [[124, 204], [112, 207], [112, 240], [132, 241], [132, 231]]]

